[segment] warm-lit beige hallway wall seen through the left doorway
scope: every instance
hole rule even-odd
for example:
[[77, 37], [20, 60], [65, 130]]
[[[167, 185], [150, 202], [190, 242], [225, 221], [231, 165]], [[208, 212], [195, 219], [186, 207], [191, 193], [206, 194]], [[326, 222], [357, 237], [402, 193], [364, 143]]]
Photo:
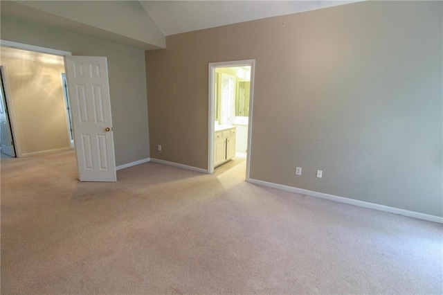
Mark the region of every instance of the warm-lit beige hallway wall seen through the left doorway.
[[17, 157], [72, 149], [64, 58], [2, 44], [1, 63]]

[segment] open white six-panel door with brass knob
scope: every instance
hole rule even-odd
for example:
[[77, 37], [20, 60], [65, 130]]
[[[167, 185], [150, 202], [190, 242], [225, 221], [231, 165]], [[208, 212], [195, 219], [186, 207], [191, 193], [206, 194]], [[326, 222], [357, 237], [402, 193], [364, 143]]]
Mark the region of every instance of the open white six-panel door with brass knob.
[[117, 181], [106, 57], [65, 56], [80, 181]]

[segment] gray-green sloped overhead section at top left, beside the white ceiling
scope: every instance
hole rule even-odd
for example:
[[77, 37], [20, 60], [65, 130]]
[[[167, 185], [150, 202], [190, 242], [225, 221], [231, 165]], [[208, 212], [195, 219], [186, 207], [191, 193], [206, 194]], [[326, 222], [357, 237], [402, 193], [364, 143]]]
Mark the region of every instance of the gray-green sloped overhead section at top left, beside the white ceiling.
[[2, 2], [3, 12], [22, 19], [32, 17], [33, 21], [51, 25], [55, 21], [64, 28], [73, 27], [93, 37], [105, 34], [107, 40], [136, 48], [165, 48], [165, 35], [139, 1]]

